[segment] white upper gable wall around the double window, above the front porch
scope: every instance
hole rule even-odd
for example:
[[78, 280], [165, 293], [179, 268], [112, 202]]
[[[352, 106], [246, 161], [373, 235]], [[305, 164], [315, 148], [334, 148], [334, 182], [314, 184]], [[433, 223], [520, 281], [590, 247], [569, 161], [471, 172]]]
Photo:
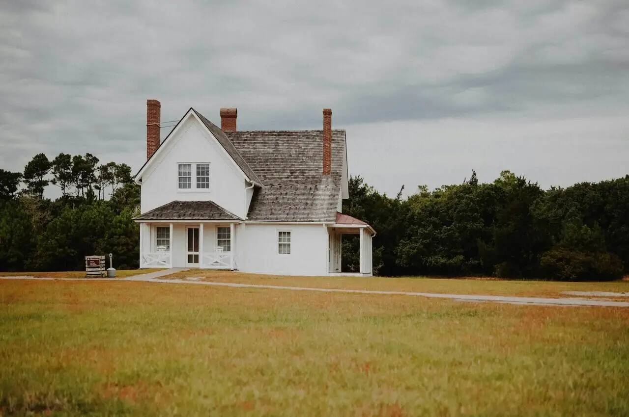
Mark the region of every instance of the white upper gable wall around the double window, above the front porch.
[[[142, 175], [142, 213], [174, 200], [211, 200], [244, 218], [245, 178], [214, 136], [194, 116], [182, 122]], [[179, 190], [178, 163], [209, 162], [209, 192]], [[194, 167], [193, 167], [194, 169]], [[192, 175], [196, 175], [193, 171]]]

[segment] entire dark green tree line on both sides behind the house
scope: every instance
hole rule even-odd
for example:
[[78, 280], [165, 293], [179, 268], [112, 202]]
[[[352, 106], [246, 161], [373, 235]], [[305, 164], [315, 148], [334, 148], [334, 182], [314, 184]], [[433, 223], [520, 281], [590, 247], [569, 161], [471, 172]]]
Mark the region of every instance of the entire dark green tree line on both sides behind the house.
[[[61, 196], [45, 197], [47, 187]], [[503, 171], [389, 197], [350, 178], [343, 212], [377, 231], [374, 272], [384, 276], [499, 276], [602, 280], [629, 273], [629, 175], [542, 190]], [[23, 172], [0, 169], [0, 271], [68, 271], [84, 256], [114, 254], [138, 268], [140, 187], [131, 168], [86, 153], [36, 154]], [[343, 271], [359, 242], [343, 236]]]

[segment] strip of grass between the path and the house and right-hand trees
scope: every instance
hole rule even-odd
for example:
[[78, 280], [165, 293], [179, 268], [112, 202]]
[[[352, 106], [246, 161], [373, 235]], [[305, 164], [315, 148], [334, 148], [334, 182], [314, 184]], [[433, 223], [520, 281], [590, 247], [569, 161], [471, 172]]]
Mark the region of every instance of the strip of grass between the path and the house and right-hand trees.
[[481, 294], [507, 296], [566, 297], [562, 291], [610, 291], [625, 293], [629, 298], [629, 281], [600, 283], [562, 283], [554, 281], [516, 281], [493, 278], [386, 278], [386, 277], [304, 277], [245, 274], [231, 271], [189, 269], [165, 279], [203, 277], [204, 281], [267, 284], [348, 290], [413, 291], [444, 294]]

